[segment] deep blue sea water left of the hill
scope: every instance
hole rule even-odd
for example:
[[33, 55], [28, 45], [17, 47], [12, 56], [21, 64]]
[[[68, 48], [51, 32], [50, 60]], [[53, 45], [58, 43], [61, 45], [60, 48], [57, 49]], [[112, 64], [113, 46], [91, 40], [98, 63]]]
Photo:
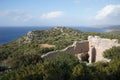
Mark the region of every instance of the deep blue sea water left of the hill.
[[46, 30], [50, 27], [0, 27], [0, 44], [13, 41], [28, 31], [32, 30]]

